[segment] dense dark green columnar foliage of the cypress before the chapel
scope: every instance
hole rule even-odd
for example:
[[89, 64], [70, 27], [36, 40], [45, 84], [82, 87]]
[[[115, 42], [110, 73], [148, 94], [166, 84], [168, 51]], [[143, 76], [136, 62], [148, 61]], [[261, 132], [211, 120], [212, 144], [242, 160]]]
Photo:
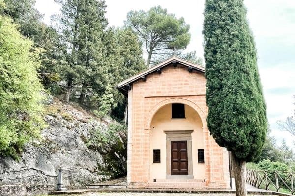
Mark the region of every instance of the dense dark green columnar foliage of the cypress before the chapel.
[[246, 9], [242, 0], [206, 0], [204, 15], [208, 128], [220, 146], [252, 161], [265, 142], [267, 117]]

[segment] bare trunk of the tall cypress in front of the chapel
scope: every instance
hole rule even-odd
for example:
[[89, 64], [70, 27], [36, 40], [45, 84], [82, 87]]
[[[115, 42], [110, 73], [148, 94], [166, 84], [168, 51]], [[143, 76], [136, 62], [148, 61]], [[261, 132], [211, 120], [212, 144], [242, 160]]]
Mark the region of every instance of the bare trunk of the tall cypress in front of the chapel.
[[246, 161], [232, 154], [233, 171], [235, 175], [236, 196], [247, 196], [246, 190]]

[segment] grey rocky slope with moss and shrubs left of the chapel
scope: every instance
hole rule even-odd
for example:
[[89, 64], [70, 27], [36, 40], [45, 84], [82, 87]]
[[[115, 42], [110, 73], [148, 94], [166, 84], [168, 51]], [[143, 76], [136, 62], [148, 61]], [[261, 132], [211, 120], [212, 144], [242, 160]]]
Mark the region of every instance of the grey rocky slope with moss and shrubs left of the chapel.
[[0, 157], [0, 185], [56, 184], [64, 169], [67, 188], [83, 188], [126, 172], [126, 132], [111, 119], [54, 100], [46, 107], [48, 127], [26, 145], [20, 160]]

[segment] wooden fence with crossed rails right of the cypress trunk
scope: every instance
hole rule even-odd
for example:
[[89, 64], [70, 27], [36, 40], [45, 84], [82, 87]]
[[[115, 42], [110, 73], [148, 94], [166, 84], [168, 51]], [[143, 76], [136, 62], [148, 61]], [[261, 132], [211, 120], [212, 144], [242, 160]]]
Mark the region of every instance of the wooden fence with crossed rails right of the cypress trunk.
[[295, 173], [248, 170], [246, 171], [247, 182], [260, 189], [295, 194]]

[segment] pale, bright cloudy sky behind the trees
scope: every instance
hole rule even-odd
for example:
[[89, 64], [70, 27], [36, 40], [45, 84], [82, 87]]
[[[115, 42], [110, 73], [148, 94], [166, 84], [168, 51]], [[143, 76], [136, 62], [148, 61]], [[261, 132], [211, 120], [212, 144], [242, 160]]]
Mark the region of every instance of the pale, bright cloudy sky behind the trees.
[[[105, 0], [109, 25], [124, 25], [130, 10], [148, 11], [160, 5], [190, 25], [191, 41], [186, 51], [196, 50], [203, 57], [203, 11], [205, 0]], [[248, 21], [253, 31], [258, 67], [267, 104], [271, 136], [280, 145], [285, 139], [293, 148], [295, 137], [280, 131], [276, 122], [294, 115], [295, 110], [295, 0], [244, 0]], [[36, 0], [36, 8], [44, 14], [44, 22], [59, 13], [53, 0]]]

